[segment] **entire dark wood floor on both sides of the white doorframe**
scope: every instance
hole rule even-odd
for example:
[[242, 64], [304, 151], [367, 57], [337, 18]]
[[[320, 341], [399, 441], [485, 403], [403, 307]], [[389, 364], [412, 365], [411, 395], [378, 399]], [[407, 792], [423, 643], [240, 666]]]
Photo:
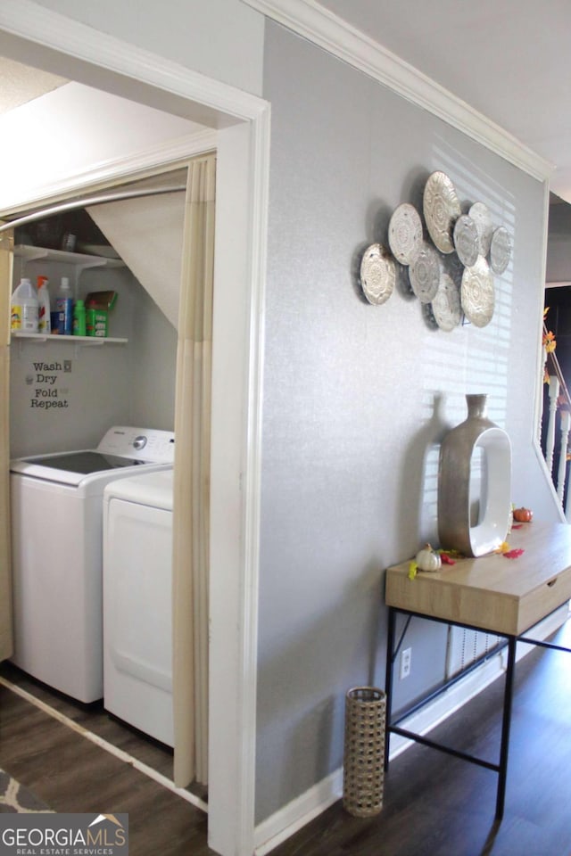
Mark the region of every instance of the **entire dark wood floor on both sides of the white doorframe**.
[[[571, 628], [564, 632], [568, 644]], [[433, 736], [495, 761], [502, 688], [494, 682]], [[0, 766], [56, 811], [127, 811], [133, 856], [212, 853], [202, 811], [4, 687]], [[392, 762], [377, 818], [353, 818], [335, 803], [273, 856], [571, 856], [571, 654], [538, 648], [517, 664], [499, 829], [496, 780], [415, 745]]]

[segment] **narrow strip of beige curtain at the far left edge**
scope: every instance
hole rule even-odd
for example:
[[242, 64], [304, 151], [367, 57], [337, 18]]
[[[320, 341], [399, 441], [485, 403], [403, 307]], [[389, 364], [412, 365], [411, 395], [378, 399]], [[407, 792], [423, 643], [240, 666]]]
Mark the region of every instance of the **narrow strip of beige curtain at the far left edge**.
[[0, 233], [0, 661], [12, 654], [10, 559], [10, 295], [12, 230]]

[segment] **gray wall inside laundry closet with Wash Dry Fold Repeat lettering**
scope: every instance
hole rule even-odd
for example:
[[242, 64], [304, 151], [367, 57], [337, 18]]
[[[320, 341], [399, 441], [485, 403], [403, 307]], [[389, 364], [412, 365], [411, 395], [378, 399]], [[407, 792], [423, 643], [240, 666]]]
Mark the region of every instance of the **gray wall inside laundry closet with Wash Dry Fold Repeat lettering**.
[[[20, 259], [15, 259], [14, 273], [19, 281]], [[74, 283], [70, 265], [37, 261], [23, 268], [23, 276], [34, 283], [40, 274], [50, 277], [52, 301], [61, 276]], [[12, 341], [12, 457], [92, 448], [112, 424], [173, 430], [176, 330], [128, 268], [84, 271], [76, 296], [108, 289], [118, 293], [109, 335], [126, 337], [128, 344], [80, 346], [59, 342], [58, 336], [45, 343]], [[65, 361], [70, 361], [70, 371]], [[38, 407], [34, 400], [47, 406]], [[67, 404], [52, 406], [56, 401]]]

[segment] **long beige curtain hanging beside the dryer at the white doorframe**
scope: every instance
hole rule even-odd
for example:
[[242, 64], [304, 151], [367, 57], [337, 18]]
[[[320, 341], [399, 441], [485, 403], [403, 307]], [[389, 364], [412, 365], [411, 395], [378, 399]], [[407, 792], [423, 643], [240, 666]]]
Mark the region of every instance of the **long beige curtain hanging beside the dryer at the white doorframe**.
[[215, 156], [186, 186], [178, 315], [173, 509], [174, 780], [208, 772], [208, 578]]

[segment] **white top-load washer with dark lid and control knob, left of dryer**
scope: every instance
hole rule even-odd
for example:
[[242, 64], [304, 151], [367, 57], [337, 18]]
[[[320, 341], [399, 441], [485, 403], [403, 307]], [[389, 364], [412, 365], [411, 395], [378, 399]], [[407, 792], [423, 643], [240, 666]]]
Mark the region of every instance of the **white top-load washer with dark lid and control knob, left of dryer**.
[[12, 663], [81, 702], [103, 696], [103, 488], [173, 460], [172, 432], [114, 426], [96, 449], [12, 461]]

